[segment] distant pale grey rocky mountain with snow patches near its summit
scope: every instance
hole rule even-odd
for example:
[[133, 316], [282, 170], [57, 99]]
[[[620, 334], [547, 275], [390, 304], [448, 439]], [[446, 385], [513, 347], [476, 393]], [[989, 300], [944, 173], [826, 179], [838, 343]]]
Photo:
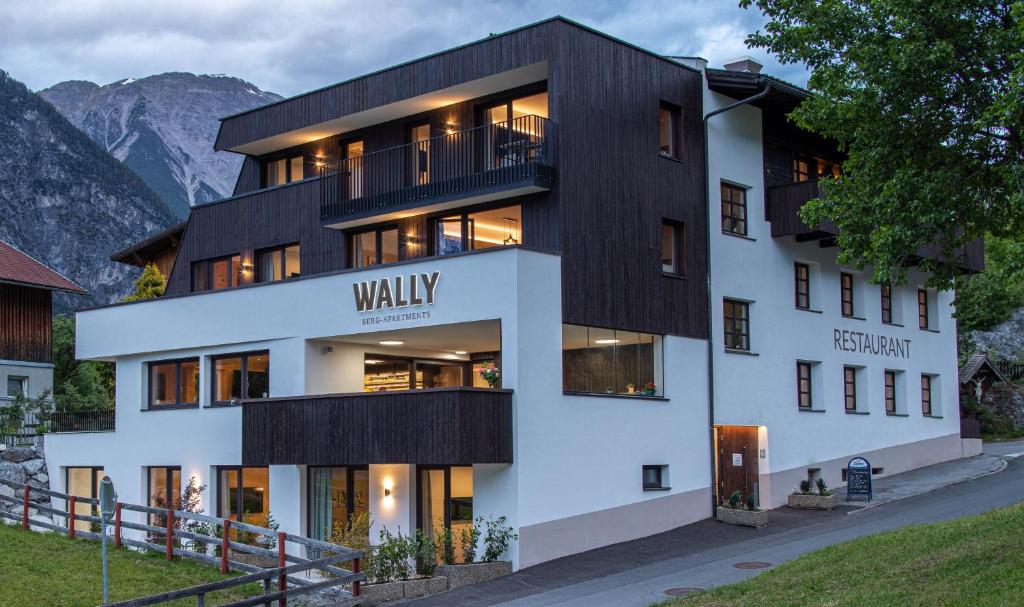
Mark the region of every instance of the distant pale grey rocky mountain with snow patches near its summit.
[[213, 150], [218, 119], [282, 98], [238, 78], [183, 73], [104, 86], [61, 82], [39, 95], [142, 177], [178, 217], [234, 188], [242, 157]]

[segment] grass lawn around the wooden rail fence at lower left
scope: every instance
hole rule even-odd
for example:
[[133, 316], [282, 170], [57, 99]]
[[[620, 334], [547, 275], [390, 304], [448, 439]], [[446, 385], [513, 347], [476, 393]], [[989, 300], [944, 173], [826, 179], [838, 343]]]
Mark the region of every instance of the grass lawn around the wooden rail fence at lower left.
[[[125, 549], [110, 550], [111, 601], [198, 586], [221, 579], [220, 572], [195, 561]], [[87, 605], [103, 602], [98, 541], [69, 539], [0, 523], [0, 605], [10, 607]], [[222, 605], [258, 594], [258, 584], [214, 593], [207, 605]], [[196, 599], [174, 603], [194, 606]]]

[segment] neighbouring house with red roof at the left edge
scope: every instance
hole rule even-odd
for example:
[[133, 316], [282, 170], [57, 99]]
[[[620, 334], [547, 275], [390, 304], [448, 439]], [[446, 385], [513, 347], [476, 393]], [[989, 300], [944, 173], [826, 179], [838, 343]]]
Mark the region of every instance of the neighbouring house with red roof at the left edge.
[[0, 241], [0, 406], [53, 389], [53, 292], [85, 290]]

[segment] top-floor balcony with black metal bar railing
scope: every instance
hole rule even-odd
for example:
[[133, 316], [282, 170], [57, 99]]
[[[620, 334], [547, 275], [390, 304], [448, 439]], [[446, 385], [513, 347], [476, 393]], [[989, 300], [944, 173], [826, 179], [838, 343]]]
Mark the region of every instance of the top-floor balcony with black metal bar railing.
[[522, 116], [327, 164], [321, 219], [348, 228], [548, 190], [553, 130]]

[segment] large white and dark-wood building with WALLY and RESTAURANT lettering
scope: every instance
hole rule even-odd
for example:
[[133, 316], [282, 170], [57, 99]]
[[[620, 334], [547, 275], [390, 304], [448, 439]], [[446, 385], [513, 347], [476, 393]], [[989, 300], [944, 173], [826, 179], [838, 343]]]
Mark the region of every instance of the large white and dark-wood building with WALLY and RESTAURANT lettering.
[[556, 17], [223, 119], [236, 192], [167, 295], [79, 313], [116, 431], [50, 437], [53, 476], [313, 537], [505, 516], [523, 567], [961, 457], [950, 297], [796, 220], [841, 159], [752, 66]]

